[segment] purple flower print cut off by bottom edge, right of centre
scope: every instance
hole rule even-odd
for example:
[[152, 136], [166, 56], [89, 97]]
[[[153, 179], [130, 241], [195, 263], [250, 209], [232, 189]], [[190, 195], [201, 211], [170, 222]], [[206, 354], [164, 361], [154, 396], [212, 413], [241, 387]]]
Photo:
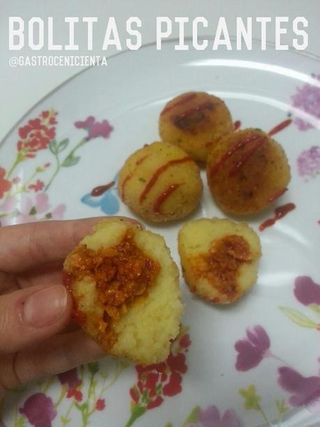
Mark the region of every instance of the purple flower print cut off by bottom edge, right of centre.
[[227, 410], [220, 417], [218, 408], [212, 405], [199, 410], [197, 423], [187, 427], [241, 427], [241, 422], [233, 410]]

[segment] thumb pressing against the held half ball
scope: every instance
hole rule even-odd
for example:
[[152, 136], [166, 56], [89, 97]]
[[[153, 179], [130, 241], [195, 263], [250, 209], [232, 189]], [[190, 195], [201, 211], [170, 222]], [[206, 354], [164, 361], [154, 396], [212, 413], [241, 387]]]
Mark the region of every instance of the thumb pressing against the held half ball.
[[0, 297], [0, 353], [16, 352], [59, 332], [72, 301], [62, 285], [32, 286]]

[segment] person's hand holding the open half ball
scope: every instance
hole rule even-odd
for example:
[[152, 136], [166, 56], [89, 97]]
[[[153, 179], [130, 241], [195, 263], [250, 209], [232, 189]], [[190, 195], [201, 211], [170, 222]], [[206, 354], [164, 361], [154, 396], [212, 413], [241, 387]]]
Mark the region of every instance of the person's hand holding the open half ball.
[[73, 302], [61, 284], [64, 258], [100, 219], [0, 228], [0, 398], [8, 389], [104, 354], [82, 330], [70, 327]]

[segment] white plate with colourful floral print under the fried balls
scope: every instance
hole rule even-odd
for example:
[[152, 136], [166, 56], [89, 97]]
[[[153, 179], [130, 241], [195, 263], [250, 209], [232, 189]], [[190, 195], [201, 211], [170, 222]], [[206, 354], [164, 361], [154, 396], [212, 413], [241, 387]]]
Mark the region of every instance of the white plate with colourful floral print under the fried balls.
[[[4, 424], [28, 424], [36, 417], [38, 427], [67, 421], [95, 427], [320, 425], [319, 73], [317, 59], [276, 52], [272, 45], [266, 52], [259, 45], [252, 52], [197, 52], [192, 47], [175, 52], [174, 42], [167, 42], [161, 52], [148, 45], [112, 57], [107, 68], [82, 72], [26, 114], [1, 146], [2, 225], [46, 217], [132, 215], [116, 186], [98, 197], [91, 190], [116, 180], [130, 153], [159, 139], [158, 116], [165, 102], [190, 90], [223, 98], [243, 128], [268, 131], [290, 114], [292, 123], [275, 138], [287, 152], [292, 179], [275, 206], [250, 221], [260, 235], [263, 258], [249, 295], [216, 307], [190, 295], [181, 279], [185, 329], [165, 366], [167, 375], [154, 367], [153, 375], [138, 375], [135, 366], [106, 357], [8, 394]], [[42, 111], [50, 111], [56, 121], [48, 125], [43, 115], [41, 123], [51, 129], [47, 137], [33, 145], [33, 152], [30, 140], [17, 146], [38, 126], [29, 120]], [[94, 119], [77, 123], [89, 116]], [[49, 150], [52, 139], [60, 145], [51, 144]], [[20, 162], [22, 153], [34, 157]], [[54, 176], [56, 156], [65, 166]], [[259, 231], [274, 208], [285, 203], [295, 203], [296, 209]], [[208, 189], [193, 215], [202, 216], [224, 216]], [[153, 228], [165, 236], [177, 263], [180, 226]], [[91, 387], [90, 378], [95, 380]], [[156, 401], [152, 378], [158, 386]], [[37, 407], [43, 407], [41, 419]]]

